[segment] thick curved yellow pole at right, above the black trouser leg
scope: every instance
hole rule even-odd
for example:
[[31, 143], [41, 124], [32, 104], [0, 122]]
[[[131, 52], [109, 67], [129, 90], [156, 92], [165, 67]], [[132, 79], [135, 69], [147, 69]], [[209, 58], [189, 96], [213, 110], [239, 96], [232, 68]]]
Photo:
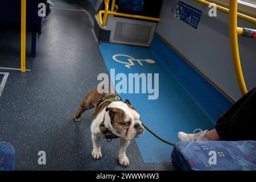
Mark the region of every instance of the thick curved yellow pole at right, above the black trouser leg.
[[244, 95], [248, 91], [245, 85], [245, 80], [243, 78], [243, 72], [241, 68], [239, 48], [238, 48], [237, 0], [229, 1], [229, 39], [230, 39], [230, 47], [231, 47], [234, 71], [236, 73], [238, 86], [240, 88], [241, 93]]

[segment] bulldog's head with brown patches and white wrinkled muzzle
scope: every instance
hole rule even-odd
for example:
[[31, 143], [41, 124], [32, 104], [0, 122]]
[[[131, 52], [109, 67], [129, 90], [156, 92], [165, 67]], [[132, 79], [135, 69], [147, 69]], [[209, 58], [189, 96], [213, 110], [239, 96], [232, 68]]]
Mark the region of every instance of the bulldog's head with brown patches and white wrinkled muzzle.
[[130, 102], [112, 102], [107, 108], [113, 127], [112, 131], [119, 137], [131, 140], [144, 133], [139, 113], [131, 106]]

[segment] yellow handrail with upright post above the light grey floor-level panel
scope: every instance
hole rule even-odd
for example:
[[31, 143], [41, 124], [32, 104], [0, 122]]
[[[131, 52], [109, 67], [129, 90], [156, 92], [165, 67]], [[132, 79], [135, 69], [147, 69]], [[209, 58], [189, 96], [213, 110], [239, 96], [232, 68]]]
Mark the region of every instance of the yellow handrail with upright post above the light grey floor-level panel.
[[[149, 17], [149, 16], [131, 15], [131, 14], [117, 13], [115, 11], [112, 11], [113, 10], [112, 8], [114, 6], [113, 1], [112, 1], [111, 11], [109, 11], [109, 0], [105, 0], [104, 3], [105, 3], [105, 10], [101, 10], [98, 13], [98, 20], [99, 20], [101, 26], [103, 26], [103, 27], [106, 25], [106, 19], [107, 19], [108, 15], [117, 15], [117, 16], [129, 17], [129, 18], [152, 20], [152, 21], [156, 21], [156, 22], [159, 22], [159, 20], [160, 20], [159, 18], [153, 18], [153, 17]], [[103, 20], [102, 20], [102, 14], [104, 14]]]

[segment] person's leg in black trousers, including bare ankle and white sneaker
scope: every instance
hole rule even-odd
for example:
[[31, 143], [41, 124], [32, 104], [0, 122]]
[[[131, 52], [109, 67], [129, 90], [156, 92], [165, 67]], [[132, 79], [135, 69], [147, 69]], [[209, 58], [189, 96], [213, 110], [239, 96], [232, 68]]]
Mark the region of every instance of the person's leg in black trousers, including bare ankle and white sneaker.
[[256, 140], [256, 88], [238, 100], [218, 119], [215, 129], [178, 133], [181, 141]]

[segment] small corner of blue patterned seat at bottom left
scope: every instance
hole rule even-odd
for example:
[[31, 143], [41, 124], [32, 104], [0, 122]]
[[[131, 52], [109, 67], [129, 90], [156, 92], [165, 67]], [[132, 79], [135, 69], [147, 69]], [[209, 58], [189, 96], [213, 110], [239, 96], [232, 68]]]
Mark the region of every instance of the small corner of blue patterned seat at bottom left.
[[0, 142], [0, 171], [13, 171], [15, 162], [14, 147], [10, 143]]

